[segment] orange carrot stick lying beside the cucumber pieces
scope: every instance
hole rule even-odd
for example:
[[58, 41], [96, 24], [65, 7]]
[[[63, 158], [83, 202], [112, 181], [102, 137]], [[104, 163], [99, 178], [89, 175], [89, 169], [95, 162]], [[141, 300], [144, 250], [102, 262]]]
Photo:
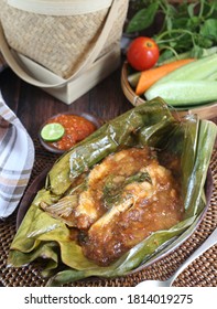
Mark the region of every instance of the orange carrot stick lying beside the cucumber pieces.
[[195, 58], [183, 58], [173, 61], [171, 63], [163, 64], [161, 66], [142, 71], [140, 79], [138, 82], [135, 94], [139, 96], [143, 94], [148, 88], [150, 88], [154, 83], [156, 83], [161, 77], [175, 71], [176, 68], [193, 62]]

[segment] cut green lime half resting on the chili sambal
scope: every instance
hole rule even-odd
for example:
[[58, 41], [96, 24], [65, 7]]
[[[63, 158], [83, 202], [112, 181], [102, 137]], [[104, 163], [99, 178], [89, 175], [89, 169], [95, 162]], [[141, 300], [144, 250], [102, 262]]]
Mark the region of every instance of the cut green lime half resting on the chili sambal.
[[61, 124], [53, 122], [45, 125], [41, 130], [41, 137], [46, 141], [55, 141], [62, 138], [65, 129]]

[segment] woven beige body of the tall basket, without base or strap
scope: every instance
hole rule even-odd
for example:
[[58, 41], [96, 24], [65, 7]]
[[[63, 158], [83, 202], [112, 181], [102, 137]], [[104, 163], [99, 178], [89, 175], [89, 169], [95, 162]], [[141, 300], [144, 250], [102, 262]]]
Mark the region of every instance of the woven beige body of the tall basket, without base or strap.
[[[112, 44], [121, 36], [128, 1], [118, 1], [121, 2], [118, 18], [113, 21], [108, 39], [98, 57], [109, 52]], [[109, 2], [111, 4], [112, 1], [100, 1], [105, 2], [101, 6], [102, 9], [94, 8], [93, 10], [96, 11], [89, 12], [93, 1], [70, 0], [67, 2], [72, 7], [65, 12], [68, 4], [63, 3], [63, 1], [35, 0], [40, 13], [31, 12], [31, 8], [19, 4], [23, 2], [28, 1], [1, 0], [1, 23], [9, 45], [56, 75], [68, 78], [91, 52], [106, 22], [109, 11], [108, 4]], [[51, 3], [48, 8], [46, 7], [47, 2]], [[59, 2], [59, 15], [53, 15], [55, 11], [52, 11], [52, 4], [54, 6], [55, 2]], [[79, 4], [77, 4], [78, 2]], [[88, 3], [84, 9], [83, 2], [84, 4]], [[94, 2], [99, 2], [99, 0]], [[22, 9], [17, 9], [15, 6]], [[78, 11], [79, 8], [80, 11]], [[66, 13], [72, 15], [65, 15]]]

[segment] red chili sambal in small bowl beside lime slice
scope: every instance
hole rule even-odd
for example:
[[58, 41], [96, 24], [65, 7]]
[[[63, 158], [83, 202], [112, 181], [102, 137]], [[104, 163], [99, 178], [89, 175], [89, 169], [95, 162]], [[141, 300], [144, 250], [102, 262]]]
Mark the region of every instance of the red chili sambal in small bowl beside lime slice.
[[68, 150], [75, 146], [75, 143], [85, 139], [97, 129], [95, 124], [77, 115], [58, 115], [47, 121], [47, 124], [52, 122], [61, 124], [65, 129], [65, 132], [59, 140], [50, 142], [51, 146], [59, 150]]

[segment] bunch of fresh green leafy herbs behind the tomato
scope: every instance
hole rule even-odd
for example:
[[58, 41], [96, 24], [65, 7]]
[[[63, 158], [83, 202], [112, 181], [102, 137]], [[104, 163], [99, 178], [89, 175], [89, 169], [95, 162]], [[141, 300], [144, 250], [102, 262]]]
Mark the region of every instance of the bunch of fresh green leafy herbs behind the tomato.
[[[173, 4], [166, 0], [139, 0], [130, 3], [135, 12], [127, 28], [128, 33], [156, 29], [153, 39], [160, 50], [160, 63], [172, 56], [191, 51], [191, 57], [200, 57], [204, 49], [217, 45], [216, 1], [182, 1]], [[150, 21], [149, 20], [150, 15]], [[156, 17], [163, 17], [159, 29]]]

